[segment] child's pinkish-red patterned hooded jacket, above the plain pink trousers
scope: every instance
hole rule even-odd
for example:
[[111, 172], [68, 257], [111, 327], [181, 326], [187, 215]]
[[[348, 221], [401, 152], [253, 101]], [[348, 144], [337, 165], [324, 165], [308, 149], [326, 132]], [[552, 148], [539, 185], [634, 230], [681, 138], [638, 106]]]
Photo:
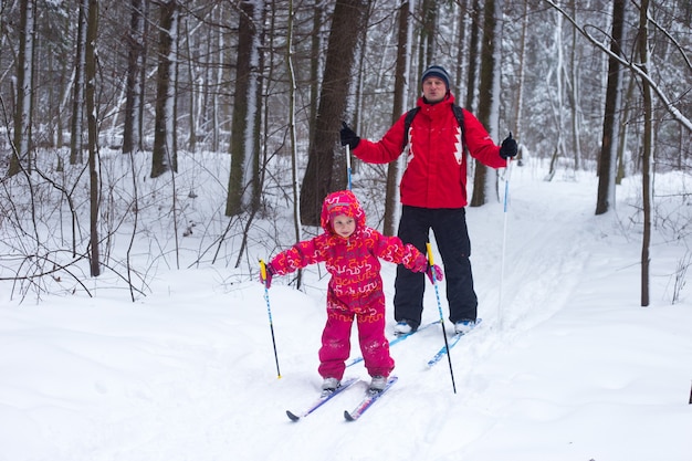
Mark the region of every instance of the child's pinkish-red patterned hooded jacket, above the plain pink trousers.
[[[346, 214], [355, 218], [356, 230], [343, 238], [332, 229], [331, 218]], [[343, 190], [331, 193], [322, 206], [324, 233], [312, 240], [296, 243], [279, 253], [270, 262], [276, 275], [324, 262], [332, 274], [327, 296], [344, 308], [356, 313], [367, 307], [374, 298], [382, 296], [382, 279], [379, 274], [381, 258], [406, 268], [423, 272], [426, 256], [411, 244], [403, 244], [397, 237], [386, 237], [366, 226], [365, 211], [354, 193]]]

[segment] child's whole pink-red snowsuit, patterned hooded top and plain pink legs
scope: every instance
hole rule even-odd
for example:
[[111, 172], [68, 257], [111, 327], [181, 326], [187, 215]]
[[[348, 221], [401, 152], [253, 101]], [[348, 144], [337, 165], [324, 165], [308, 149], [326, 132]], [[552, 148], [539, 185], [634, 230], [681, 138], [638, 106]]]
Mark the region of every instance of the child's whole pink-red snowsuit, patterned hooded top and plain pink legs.
[[[338, 214], [353, 217], [356, 221], [356, 230], [348, 238], [338, 235], [332, 228], [331, 221]], [[349, 190], [333, 192], [325, 198], [321, 223], [324, 233], [279, 253], [270, 262], [271, 271], [283, 275], [324, 262], [332, 274], [327, 291], [327, 323], [319, 349], [322, 377], [343, 378], [350, 353], [354, 317], [368, 374], [389, 376], [395, 364], [385, 336], [385, 293], [379, 259], [403, 264], [415, 272], [427, 270], [427, 259], [398, 237], [386, 237], [367, 227], [365, 211]]]

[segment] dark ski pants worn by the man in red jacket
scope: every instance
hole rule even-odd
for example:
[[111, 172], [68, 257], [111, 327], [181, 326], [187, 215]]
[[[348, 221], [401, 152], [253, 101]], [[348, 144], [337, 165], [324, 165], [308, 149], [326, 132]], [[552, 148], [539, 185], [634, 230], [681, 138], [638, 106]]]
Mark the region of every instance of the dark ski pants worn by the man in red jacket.
[[[432, 229], [438, 251], [444, 265], [447, 301], [452, 323], [476, 318], [478, 297], [473, 291], [471, 274], [471, 241], [466, 228], [466, 212], [463, 208], [418, 208], [403, 206], [399, 221], [399, 238], [411, 243], [423, 254], [429, 232]], [[397, 266], [395, 282], [395, 319], [408, 321], [418, 327], [423, 311], [426, 276], [411, 272], [402, 264]]]

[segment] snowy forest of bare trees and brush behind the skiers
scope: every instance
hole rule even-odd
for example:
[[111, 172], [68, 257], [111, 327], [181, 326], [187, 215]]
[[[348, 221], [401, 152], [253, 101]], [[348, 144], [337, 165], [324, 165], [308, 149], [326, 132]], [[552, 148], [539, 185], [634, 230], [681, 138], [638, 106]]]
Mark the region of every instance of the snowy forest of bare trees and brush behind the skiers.
[[[597, 175], [595, 213], [612, 210], [623, 177], [641, 177], [642, 305], [652, 226], [689, 232], [684, 208], [657, 214], [653, 188], [657, 172], [692, 166], [686, 0], [0, 4], [11, 297], [92, 295], [87, 280], [106, 272], [134, 301], [161, 265], [255, 276], [258, 258], [319, 231], [322, 199], [352, 174], [369, 223], [394, 233], [405, 156], [347, 170], [338, 130], [346, 121], [379, 138], [430, 64], [496, 142], [518, 139], [514, 167], [532, 156], [548, 163], [545, 180]], [[196, 177], [210, 169], [224, 195], [200, 216]], [[470, 175], [472, 207], [501, 199], [495, 171]], [[689, 195], [678, 195], [686, 207]], [[686, 251], [677, 270], [691, 263]]]

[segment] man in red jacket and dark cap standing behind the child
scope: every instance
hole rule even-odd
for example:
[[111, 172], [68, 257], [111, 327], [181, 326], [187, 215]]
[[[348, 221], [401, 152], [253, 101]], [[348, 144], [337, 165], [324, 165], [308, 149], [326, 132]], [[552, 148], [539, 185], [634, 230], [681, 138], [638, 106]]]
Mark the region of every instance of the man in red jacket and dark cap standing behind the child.
[[[406, 132], [402, 115], [379, 142], [359, 138], [346, 124], [340, 130], [343, 146], [366, 163], [388, 164], [395, 160], [408, 139], [407, 165], [399, 191], [401, 219], [399, 238], [426, 252], [430, 229], [444, 264], [450, 321], [455, 332], [466, 332], [476, 321], [478, 298], [471, 273], [471, 242], [466, 229], [466, 159], [471, 156], [491, 168], [506, 167], [506, 159], [517, 153], [512, 134], [496, 146], [483, 125], [463, 109], [463, 129], [452, 106], [447, 71], [428, 67], [421, 77], [422, 96], [418, 113]], [[395, 333], [416, 331], [421, 322], [424, 279], [420, 273], [397, 268], [395, 282]]]

